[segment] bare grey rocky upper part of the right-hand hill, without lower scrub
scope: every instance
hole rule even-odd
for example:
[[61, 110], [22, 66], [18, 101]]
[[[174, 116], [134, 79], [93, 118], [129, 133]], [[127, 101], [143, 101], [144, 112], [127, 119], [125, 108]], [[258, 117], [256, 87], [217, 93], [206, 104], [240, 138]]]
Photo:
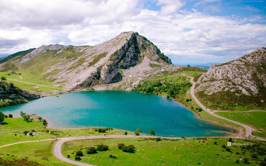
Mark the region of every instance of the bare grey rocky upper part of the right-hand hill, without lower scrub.
[[212, 65], [201, 75], [196, 92], [213, 94], [219, 91], [241, 91], [246, 95], [258, 94], [258, 84], [266, 86], [266, 49], [260, 48], [234, 61]]

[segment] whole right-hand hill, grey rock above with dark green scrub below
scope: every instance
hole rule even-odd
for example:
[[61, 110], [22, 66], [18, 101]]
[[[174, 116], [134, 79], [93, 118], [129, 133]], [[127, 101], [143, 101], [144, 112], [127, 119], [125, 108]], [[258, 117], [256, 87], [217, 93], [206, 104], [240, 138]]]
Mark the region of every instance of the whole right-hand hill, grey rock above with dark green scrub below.
[[196, 84], [196, 95], [213, 109], [265, 109], [266, 49], [260, 48], [234, 61], [212, 65]]

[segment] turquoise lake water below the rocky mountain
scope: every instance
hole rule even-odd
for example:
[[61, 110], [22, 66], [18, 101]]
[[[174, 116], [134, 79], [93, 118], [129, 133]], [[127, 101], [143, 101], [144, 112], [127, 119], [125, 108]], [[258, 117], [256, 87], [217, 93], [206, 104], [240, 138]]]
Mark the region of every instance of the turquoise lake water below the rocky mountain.
[[127, 91], [87, 91], [43, 97], [28, 103], [3, 107], [5, 114], [35, 113], [55, 129], [112, 127], [173, 137], [227, 136], [236, 130], [203, 120], [182, 104], [162, 96]]

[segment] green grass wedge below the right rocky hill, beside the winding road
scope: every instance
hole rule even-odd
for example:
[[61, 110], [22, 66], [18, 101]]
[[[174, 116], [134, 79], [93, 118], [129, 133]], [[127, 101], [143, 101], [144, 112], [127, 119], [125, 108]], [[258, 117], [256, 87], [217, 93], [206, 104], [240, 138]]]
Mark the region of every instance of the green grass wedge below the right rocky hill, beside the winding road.
[[[266, 138], [266, 112], [215, 112], [222, 117], [244, 123], [255, 129], [253, 134], [262, 138]], [[263, 132], [258, 132], [262, 129]]]

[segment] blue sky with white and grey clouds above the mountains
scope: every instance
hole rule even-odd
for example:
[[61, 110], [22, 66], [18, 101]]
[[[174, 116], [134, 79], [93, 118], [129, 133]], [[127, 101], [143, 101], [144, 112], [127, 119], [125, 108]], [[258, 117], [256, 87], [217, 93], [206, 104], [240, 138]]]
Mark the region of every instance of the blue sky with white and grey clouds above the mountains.
[[1, 0], [0, 57], [96, 45], [136, 31], [177, 64], [228, 62], [266, 47], [266, 0]]

